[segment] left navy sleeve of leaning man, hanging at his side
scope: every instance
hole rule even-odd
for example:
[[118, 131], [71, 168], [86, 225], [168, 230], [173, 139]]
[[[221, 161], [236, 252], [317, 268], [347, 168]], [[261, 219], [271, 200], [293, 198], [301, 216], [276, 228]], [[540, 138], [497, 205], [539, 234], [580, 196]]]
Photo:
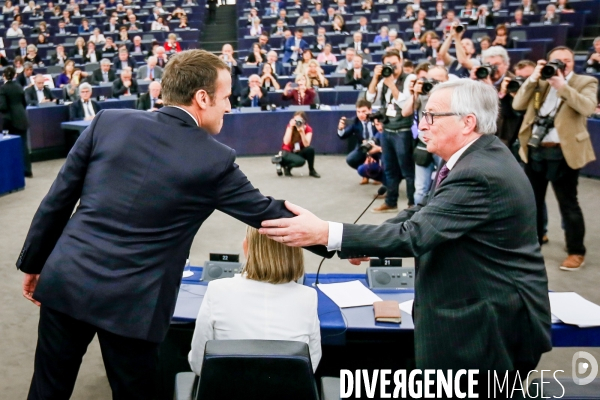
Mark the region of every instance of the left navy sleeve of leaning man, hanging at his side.
[[28, 274], [39, 274], [56, 242], [73, 214], [83, 190], [83, 182], [93, 148], [93, 133], [101, 113], [85, 129], [65, 164], [60, 169], [50, 191], [33, 217], [17, 268]]

